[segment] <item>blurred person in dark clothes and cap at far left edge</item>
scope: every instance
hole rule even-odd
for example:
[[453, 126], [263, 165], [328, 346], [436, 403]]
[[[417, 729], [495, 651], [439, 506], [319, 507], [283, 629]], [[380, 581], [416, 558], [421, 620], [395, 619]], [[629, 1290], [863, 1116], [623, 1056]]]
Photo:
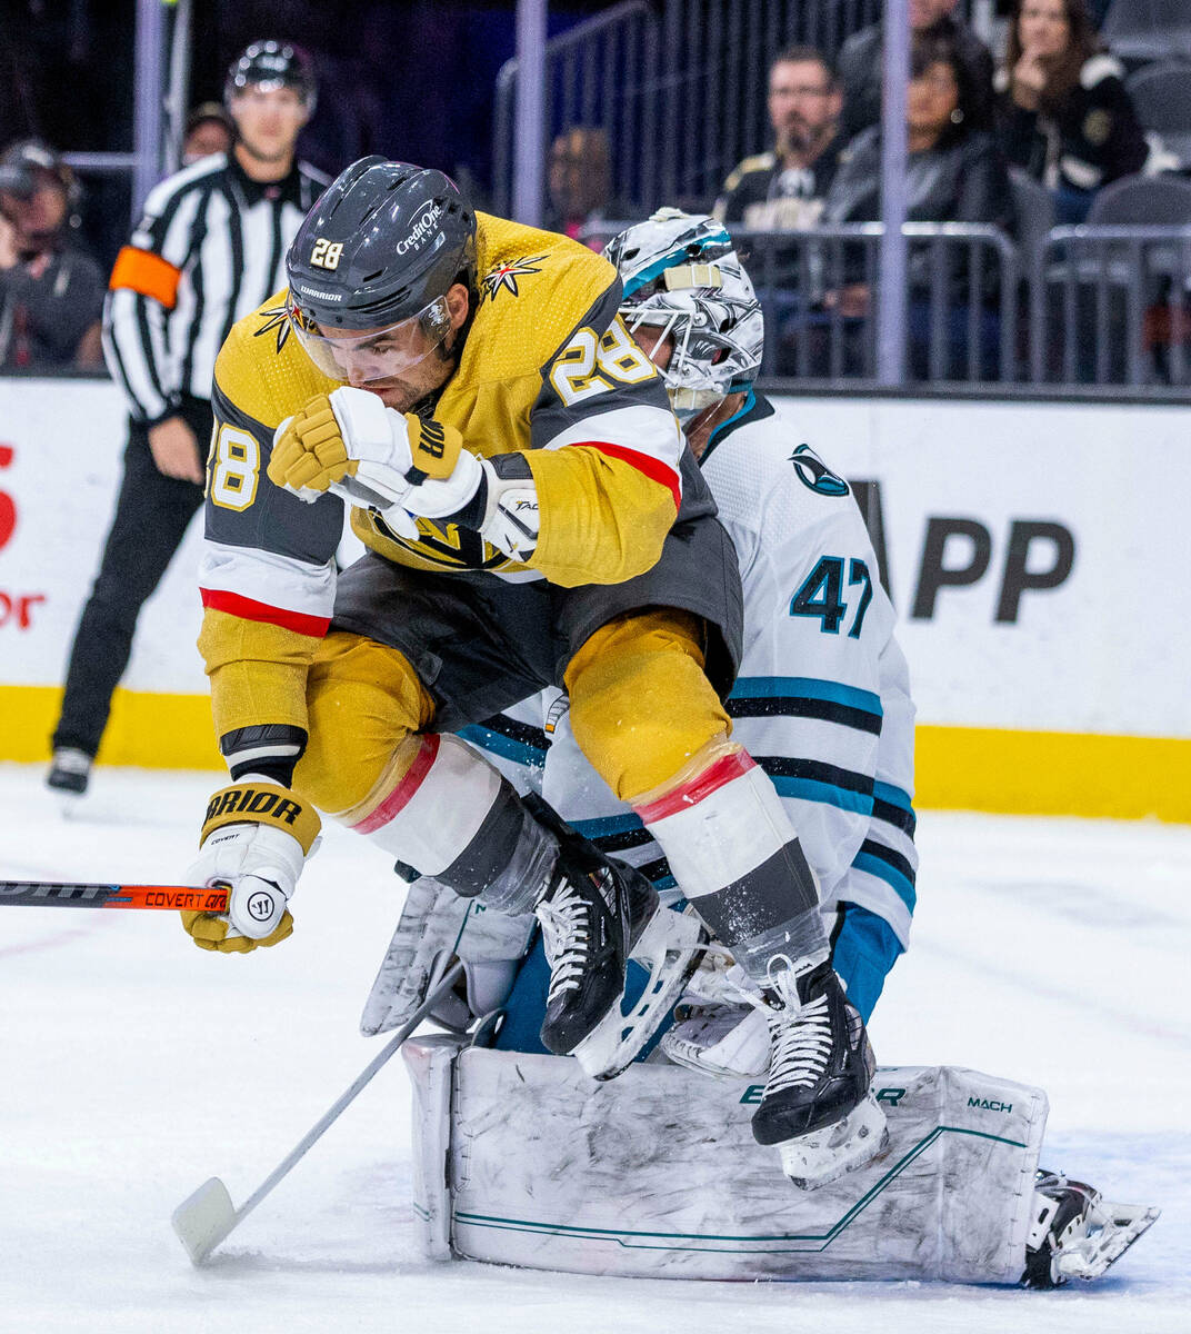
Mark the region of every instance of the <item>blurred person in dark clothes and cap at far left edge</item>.
[[104, 275], [77, 241], [79, 185], [37, 140], [0, 157], [0, 368], [103, 366]]

